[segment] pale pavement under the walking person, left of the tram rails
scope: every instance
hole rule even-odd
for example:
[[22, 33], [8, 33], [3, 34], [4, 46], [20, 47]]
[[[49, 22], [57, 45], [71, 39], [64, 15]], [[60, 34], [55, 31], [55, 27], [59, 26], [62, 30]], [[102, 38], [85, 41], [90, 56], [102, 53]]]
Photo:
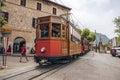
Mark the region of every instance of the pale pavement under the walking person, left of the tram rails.
[[38, 64], [34, 62], [33, 54], [28, 55], [29, 61], [27, 62], [26, 59], [23, 57], [22, 62], [20, 63], [20, 54], [13, 54], [12, 56], [7, 56], [7, 67], [2, 67], [2, 56], [0, 55], [0, 77], [9, 75], [14, 72], [19, 72], [21, 70], [25, 70], [28, 68], [32, 68], [37, 66]]

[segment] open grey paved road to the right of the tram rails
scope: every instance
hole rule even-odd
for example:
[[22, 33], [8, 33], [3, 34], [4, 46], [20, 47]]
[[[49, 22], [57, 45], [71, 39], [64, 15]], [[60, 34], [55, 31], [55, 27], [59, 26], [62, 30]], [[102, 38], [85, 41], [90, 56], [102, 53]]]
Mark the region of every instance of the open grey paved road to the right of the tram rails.
[[120, 80], [120, 58], [90, 52], [42, 80]]

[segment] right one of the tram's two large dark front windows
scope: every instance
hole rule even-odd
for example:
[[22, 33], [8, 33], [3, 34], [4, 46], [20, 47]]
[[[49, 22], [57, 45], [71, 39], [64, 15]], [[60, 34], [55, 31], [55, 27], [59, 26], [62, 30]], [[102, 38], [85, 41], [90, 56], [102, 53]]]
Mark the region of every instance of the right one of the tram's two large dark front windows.
[[52, 24], [52, 37], [60, 37], [60, 24]]

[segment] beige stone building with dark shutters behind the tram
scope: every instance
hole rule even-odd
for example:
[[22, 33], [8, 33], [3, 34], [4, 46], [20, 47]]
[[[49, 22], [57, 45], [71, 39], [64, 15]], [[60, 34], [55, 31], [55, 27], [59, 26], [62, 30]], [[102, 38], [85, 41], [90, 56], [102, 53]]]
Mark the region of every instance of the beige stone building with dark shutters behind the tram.
[[67, 14], [70, 8], [50, 0], [6, 0], [3, 8], [8, 13], [8, 24], [5, 29], [12, 30], [11, 35], [4, 37], [4, 46], [10, 44], [13, 53], [19, 53], [26, 44], [27, 53], [34, 46], [36, 38], [36, 19], [42, 16]]

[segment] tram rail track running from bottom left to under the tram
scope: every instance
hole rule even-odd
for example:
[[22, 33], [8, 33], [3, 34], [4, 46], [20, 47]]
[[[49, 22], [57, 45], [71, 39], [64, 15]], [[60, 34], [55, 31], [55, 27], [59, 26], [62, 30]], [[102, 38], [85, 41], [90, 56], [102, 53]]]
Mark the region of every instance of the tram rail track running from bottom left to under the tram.
[[34, 80], [34, 79], [40, 80], [44, 77], [54, 74], [55, 72], [59, 71], [60, 69], [62, 69], [63, 67], [66, 67], [67, 65], [71, 63], [37, 66], [33, 69], [25, 70], [24, 72], [18, 72], [15, 74], [4, 76], [0, 78], [0, 80]]

